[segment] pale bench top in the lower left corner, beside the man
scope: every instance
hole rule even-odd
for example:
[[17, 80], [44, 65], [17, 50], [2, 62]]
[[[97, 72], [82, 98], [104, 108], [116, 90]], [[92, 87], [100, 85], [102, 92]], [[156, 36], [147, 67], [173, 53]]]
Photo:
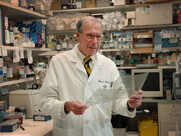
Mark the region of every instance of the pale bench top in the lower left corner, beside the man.
[[13, 132], [3, 132], [0, 136], [51, 136], [53, 129], [53, 120], [33, 121], [33, 119], [23, 120], [23, 124]]

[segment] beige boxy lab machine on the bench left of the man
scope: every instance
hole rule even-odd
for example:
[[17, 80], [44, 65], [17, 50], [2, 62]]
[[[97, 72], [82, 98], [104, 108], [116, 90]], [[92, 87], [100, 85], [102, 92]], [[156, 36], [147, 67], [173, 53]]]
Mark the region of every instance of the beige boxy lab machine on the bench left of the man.
[[38, 111], [39, 90], [15, 90], [10, 92], [9, 105], [26, 107], [26, 118], [33, 118], [33, 114]]

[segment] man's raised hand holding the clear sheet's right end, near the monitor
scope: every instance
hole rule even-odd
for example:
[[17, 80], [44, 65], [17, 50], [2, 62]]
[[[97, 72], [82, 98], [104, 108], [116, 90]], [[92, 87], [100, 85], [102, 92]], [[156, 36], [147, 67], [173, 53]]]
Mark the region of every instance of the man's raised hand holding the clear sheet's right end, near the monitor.
[[142, 90], [139, 90], [137, 93], [132, 94], [128, 100], [128, 105], [130, 108], [137, 108], [141, 105], [142, 102]]

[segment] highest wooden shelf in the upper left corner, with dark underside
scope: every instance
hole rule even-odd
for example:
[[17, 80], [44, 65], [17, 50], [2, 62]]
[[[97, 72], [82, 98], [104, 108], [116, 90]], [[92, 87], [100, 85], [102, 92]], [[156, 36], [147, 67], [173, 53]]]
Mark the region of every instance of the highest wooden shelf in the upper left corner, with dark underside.
[[6, 9], [8, 12], [8, 18], [13, 20], [46, 18], [45, 15], [38, 12], [31, 11], [26, 8], [22, 8], [3, 1], [0, 1], [0, 8]]

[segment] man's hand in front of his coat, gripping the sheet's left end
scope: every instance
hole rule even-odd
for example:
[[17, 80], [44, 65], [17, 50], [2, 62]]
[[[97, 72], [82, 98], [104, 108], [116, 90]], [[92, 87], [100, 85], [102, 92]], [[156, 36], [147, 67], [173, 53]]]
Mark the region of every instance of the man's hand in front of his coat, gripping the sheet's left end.
[[65, 109], [66, 109], [65, 111], [66, 112], [72, 111], [75, 115], [82, 115], [87, 108], [88, 108], [87, 105], [79, 101], [65, 102]]

